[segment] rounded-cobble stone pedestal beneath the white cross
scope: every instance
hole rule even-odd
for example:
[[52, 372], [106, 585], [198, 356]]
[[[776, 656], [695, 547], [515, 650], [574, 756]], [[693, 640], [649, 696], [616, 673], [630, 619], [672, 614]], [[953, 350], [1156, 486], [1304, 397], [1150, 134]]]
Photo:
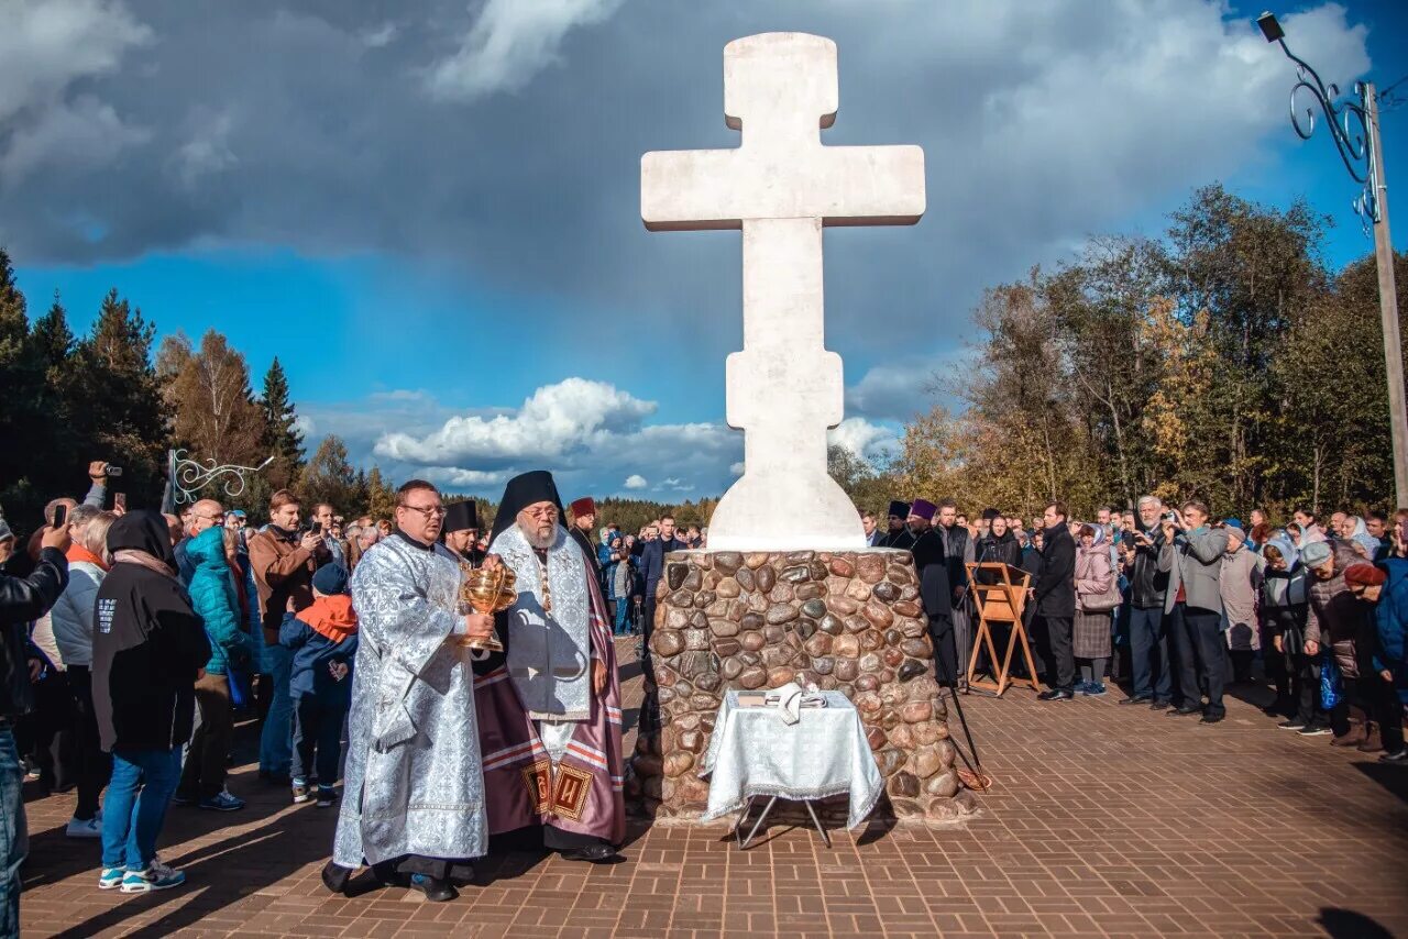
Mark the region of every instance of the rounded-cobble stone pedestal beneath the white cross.
[[[697, 819], [724, 691], [793, 680], [839, 690], [860, 712], [886, 780], [872, 818], [950, 822], [974, 811], [953, 771], [910, 552], [673, 552], [659, 590], [660, 726], [636, 741], [628, 787], [646, 814]], [[824, 812], [842, 821], [845, 797]]]

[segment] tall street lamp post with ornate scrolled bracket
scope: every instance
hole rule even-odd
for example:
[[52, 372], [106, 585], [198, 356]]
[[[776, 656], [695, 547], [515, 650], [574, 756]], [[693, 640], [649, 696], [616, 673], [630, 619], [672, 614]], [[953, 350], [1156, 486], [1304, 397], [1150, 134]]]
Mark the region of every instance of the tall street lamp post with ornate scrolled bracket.
[[1295, 106], [1302, 90], [1315, 99], [1325, 114], [1331, 139], [1339, 151], [1345, 169], [1363, 186], [1354, 198], [1354, 213], [1364, 232], [1374, 234], [1374, 263], [1378, 267], [1378, 314], [1384, 328], [1384, 370], [1388, 376], [1388, 427], [1394, 448], [1394, 489], [1398, 505], [1408, 507], [1408, 408], [1404, 404], [1404, 358], [1398, 334], [1398, 289], [1394, 283], [1394, 248], [1388, 238], [1388, 183], [1384, 180], [1383, 142], [1378, 137], [1378, 96], [1373, 82], [1356, 82], [1359, 101], [1335, 103], [1339, 87], [1321, 82], [1315, 69], [1286, 45], [1286, 32], [1270, 13], [1257, 17], [1256, 24], [1267, 42], [1277, 42], [1286, 58], [1297, 66], [1297, 82], [1291, 87], [1291, 127], [1301, 139], [1315, 132], [1315, 108], [1304, 114]]

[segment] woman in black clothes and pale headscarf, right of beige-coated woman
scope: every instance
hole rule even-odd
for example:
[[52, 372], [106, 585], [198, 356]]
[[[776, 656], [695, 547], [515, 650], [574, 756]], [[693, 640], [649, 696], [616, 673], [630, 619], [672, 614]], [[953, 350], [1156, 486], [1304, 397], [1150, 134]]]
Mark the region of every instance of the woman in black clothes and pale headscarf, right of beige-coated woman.
[[1287, 731], [1322, 728], [1328, 718], [1319, 698], [1319, 664], [1305, 655], [1307, 583], [1300, 552], [1290, 538], [1274, 536], [1262, 549], [1257, 570], [1262, 649], [1276, 684], [1276, 704], [1267, 714], [1287, 718], [1278, 725]]

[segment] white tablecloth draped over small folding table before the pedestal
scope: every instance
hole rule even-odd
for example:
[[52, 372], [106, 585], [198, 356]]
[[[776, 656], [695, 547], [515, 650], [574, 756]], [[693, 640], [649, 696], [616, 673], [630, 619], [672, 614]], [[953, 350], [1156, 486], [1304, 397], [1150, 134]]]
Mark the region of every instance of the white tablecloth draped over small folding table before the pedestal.
[[755, 795], [814, 800], [841, 794], [850, 795], [846, 826], [865, 821], [884, 780], [855, 707], [839, 691], [822, 694], [826, 707], [803, 708], [791, 725], [779, 708], [743, 708], [736, 691], [724, 695], [700, 773], [711, 777], [704, 821], [736, 812]]

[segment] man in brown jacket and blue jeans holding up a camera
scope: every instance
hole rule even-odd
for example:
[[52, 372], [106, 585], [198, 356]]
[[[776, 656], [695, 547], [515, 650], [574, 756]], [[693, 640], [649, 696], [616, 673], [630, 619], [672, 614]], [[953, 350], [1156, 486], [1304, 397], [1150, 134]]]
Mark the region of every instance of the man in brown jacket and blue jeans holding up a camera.
[[273, 683], [269, 714], [259, 736], [259, 777], [287, 784], [293, 764], [293, 698], [289, 676], [293, 653], [279, 645], [284, 615], [313, 604], [313, 572], [332, 553], [321, 534], [298, 528], [298, 497], [286, 489], [269, 497], [269, 525], [249, 539], [249, 565], [259, 593], [265, 634], [265, 676]]

